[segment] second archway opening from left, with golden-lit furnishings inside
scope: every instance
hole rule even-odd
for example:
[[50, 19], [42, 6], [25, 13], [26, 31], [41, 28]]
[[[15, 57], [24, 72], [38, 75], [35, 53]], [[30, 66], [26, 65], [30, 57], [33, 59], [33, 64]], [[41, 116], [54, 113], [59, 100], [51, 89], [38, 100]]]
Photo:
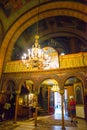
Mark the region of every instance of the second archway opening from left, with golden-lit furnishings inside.
[[18, 118], [29, 118], [32, 116], [31, 106], [33, 101], [33, 81], [24, 80], [21, 83], [21, 89], [18, 101]]

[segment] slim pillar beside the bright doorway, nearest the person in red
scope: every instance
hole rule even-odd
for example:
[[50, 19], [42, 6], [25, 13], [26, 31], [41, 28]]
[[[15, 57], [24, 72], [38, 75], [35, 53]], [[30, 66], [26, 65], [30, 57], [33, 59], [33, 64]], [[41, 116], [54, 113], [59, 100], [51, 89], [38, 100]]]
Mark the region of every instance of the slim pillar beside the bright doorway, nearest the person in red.
[[59, 91], [59, 93], [61, 94], [61, 106], [62, 106], [62, 130], [65, 130], [65, 124], [64, 124], [64, 105], [63, 105], [63, 101], [64, 101], [64, 89], [61, 89]]

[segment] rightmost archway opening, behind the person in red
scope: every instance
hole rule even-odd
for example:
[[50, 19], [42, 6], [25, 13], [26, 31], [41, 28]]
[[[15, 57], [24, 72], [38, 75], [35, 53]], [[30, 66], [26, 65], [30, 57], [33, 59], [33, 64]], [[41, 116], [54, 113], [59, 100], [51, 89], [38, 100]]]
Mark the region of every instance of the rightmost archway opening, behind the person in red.
[[78, 77], [72, 76], [66, 80], [64, 89], [67, 91], [67, 99], [65, 99], [64, 105], [68, 116], [70, 116], [69, 101], [73, 97], [76, 102], [76, 116], [85, 118], [82, 81]]

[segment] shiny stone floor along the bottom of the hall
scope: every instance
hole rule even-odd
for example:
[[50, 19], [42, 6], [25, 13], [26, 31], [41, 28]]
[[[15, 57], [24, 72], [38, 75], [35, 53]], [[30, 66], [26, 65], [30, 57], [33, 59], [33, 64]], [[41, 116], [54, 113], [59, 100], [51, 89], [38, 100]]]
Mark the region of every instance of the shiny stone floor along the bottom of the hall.
[[[21, 120], [17, 123], [13, 123], [13, 121], [2, 121], [0, 122], [0, 130], [61, 130], [62, 124], [60, 125], [49, 125], [45, 124], [46, 120], [50, 120], [54, 122], [54, 120], [58, 119], [61, 120], [61, 116], [59, 115], [48, 115], [48, 116], [39, 116], [37, 118], [37, 126], [35, 126], [34, 120], [32, 118], [27, 120]], [[38, 121], [42, 121], [42, 125], [38, 124]], [[70, 118], [65, 117], [65, 122], [69, 121]], [[51, 123], [52, 124], [52, 123]], [[78, 118], [77, 126], [69, 125], [65, 126], [66, 130], [87, 130], [87, 122], [84, 119]]]

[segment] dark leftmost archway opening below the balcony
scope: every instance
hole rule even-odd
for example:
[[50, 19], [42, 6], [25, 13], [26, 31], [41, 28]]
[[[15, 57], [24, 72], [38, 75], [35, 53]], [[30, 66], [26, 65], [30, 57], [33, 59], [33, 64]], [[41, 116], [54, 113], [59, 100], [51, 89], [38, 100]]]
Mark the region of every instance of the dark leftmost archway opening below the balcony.
[[3, 95], [3, 102], [4, 102], [4, 111], [5, 111], [5, 119], [12, 119], [14, 118], [15, 113], [15, 83], [12, 80], [9, 80], [6, 83], [6, 93]]

